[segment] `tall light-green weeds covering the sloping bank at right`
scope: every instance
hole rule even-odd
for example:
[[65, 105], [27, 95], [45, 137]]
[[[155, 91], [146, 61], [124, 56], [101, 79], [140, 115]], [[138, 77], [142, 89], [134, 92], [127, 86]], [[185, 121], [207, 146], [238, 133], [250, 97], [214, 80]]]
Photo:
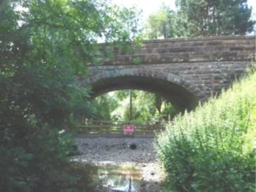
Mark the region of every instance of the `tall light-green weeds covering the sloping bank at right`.
[[167, 191], [255, 191], [255, 98], [251, 73], [158, 135]]

